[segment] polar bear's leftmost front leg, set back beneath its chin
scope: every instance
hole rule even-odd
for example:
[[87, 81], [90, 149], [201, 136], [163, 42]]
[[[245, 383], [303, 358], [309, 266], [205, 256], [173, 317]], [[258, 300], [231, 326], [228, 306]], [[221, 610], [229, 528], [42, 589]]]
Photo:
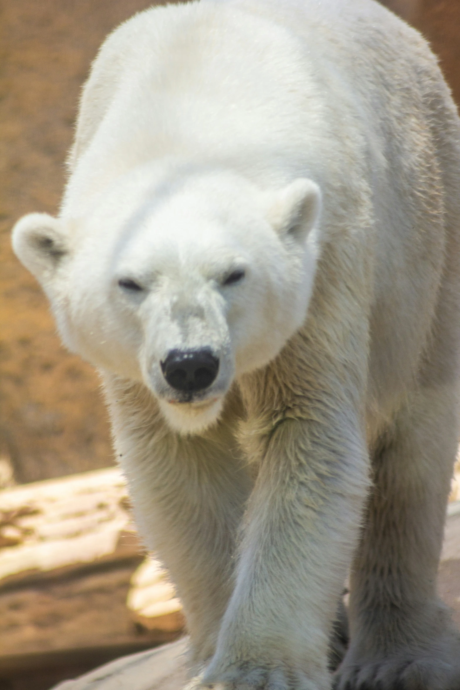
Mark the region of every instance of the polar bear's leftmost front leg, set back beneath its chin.
[[219, 424], [181, 436], [145, 386], [109, 375], [105, 384], [137, 526], [177, 587], [190, 664], [199, 669], [214, 653], [232, 592], [235, 542], [253, 483], [234, 437], [241, 401], [230, 394]]

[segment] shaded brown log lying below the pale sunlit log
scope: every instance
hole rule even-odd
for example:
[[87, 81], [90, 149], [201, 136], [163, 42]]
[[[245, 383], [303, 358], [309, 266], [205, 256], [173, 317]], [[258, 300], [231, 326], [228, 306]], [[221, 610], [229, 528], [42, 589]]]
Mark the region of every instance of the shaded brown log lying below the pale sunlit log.
[[93, 658], [99, 650], [102, 663], [176, 639], [176, 631], [140, 630], [134, 624], [126, 608], [134, 567], [116, 563], [0, 593], [0, 671], [26, 663], [52, 666], [63, 654], [71, 660], [84, 650]]

